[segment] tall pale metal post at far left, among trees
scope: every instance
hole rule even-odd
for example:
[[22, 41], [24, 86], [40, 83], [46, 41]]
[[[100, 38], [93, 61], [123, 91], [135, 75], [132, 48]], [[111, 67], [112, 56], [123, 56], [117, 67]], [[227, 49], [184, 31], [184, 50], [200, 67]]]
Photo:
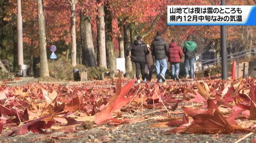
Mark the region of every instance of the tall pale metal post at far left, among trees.
[[18, 65], [23, 64], [21, 0], [17, 0]]

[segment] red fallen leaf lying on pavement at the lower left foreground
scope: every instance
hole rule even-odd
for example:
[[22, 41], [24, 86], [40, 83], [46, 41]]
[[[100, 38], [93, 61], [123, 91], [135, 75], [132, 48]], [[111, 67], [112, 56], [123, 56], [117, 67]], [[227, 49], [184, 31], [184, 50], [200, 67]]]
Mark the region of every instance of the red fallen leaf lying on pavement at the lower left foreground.
[[[8, 136], [13, 135], [14, 133], [15, 133], [15, 135], [24, 135], [24, 134], [26, 134], [27, 131], [28, 131], [29, 129], [31, 129], [31, 128], [32, 128], [32, 130], [37, 131], [36, 128], [35, 128], [33, 125], [36, 124], [37, 122], [39, 122], [40, 120], [42, 120], [42, 119], [44, 119], [44, 118], [47, 118], [47, 117], [49, 117], [49, 116], [51, 116], [51, 115], [47, 115], [47, 116], [43, 116], [43, 117], [34, 119], [33, 121], [31, 121], [31, 122], [29, 122], [29, 123], [27, 123], [27, 124], [22, 124], [22, 125], [20, 125], [17, 129], [15, 129], [15, 130], [12, 131], [11, 133], [9, 133]], [[53, 125], [52, 122], [50, 122], [48, 125], [47, 125], [47, 124], [46, 124], [46, 125], [45, 125], [45, 124], [42, 124], [40, 127], [43, 127], [43, 128], [41, 128], [41, 129], [48, 129], [48, 128], [50, 128], [52, 125]], [[28, 126], [30, 126], [29, 129], [28, 129]], [[40, 130], [40, 129], [38, 129], [38, 130]]]

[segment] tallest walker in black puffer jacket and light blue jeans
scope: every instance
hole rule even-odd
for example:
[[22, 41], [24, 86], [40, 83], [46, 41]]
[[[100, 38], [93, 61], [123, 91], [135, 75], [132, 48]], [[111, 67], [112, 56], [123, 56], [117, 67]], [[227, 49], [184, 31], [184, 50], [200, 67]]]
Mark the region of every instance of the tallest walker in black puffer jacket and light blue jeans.
[[156, 37], [151, 43], [152, 56], [155, 56], [157, 82], [165, 81], [165, 72], [167, 70], [168, 44], [161, 35], [162, 32], [157, 31]]

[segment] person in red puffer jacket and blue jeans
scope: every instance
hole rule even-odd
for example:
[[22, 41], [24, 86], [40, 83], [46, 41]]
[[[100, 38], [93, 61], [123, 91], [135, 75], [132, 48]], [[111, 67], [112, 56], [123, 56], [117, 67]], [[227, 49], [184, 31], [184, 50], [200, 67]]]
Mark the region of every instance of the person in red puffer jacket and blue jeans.
[[171, 65], [170, 71], [172, 73], [172, 79], [174, 81], [179, 81], [180, 62], [182, 61], [182, 57], [182, 47], [176, 44], [175, 39], [172, 39], [172, 42], [169, 44], [168, 61]]

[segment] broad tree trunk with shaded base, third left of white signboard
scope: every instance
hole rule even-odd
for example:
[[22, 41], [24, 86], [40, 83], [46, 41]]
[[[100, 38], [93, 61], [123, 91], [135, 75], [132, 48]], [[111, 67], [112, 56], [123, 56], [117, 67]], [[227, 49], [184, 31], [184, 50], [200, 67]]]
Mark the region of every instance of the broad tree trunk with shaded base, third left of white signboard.
[[82, 64], [86, 65], [87, 67], [96, 67], [91, 20], [82, 12], [80, 12], [80, 26], [82, 43]]

